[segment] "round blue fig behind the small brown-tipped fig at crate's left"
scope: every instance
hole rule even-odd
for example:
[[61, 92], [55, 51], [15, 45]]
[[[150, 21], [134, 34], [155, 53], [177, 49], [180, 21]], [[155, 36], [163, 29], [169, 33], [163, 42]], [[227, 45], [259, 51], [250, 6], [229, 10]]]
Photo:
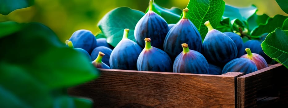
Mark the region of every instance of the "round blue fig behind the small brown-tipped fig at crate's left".
[[108, 66], [110, 66], [110, 55], [112, 53], [112, 49], [105, 47], [105, 46], [99, 46], [93, 49], [93, 51], [91, 52], [91, 59], [95, 60], [98, 56], [99, 52], [103, 52], [105, 54], [105, 56], [103, 56], [102, 58], [102, 62], [104, 62], [105, 64], [107, 64]]

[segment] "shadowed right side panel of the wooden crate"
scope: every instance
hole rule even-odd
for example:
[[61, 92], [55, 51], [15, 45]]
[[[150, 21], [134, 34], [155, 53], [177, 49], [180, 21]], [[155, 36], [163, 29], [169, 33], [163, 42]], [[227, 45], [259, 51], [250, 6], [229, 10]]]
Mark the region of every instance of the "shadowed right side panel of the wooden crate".
[[288, 107], [288, 69], [282, 64], [237, 78], [237, 107]]

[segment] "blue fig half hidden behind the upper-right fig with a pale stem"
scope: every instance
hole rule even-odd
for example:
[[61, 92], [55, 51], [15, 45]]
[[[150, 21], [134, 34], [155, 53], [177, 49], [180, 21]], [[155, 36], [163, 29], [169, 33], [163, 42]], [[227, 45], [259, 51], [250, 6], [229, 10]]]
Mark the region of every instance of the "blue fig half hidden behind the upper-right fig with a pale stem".
[[244, 47], [244, 42], [241, 36], [234, 32], [223, 32], [223, 33], [229, 36], [233, 40], [233, 42], [236, 44], [237, 52], [238, 52], [236, 58], [239, 58], [240, 56], [244, 55], [245, 47]]

